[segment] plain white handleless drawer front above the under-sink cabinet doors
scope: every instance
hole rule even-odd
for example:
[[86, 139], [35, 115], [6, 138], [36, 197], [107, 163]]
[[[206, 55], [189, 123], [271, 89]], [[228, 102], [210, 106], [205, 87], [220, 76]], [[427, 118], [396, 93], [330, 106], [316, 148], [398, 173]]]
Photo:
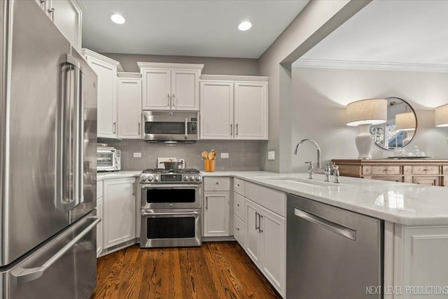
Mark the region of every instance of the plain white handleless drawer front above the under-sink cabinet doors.
[[280, 216], [286, 217], [286, 193], [263, 187], [255, 183], [245, 183], [246, 197]]

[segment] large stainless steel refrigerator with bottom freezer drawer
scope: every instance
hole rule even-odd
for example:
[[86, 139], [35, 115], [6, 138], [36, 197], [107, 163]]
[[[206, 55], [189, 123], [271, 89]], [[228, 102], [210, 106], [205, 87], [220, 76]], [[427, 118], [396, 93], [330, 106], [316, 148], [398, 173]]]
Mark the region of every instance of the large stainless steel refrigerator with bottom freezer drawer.
[[97, 76], [36, 1], [0, 13], [0, 296], [89, 298]]

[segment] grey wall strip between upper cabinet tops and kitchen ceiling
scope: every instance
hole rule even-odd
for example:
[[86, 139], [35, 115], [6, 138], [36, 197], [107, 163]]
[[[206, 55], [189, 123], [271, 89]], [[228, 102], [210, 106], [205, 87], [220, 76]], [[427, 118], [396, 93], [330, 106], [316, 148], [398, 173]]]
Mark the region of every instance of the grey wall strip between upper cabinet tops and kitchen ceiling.
[[120, 62], [125, 71], [139, 73], [137, 62], [167, 62], [204, 64], [202, 74], [258, 76], [258, 60], [245, 58], [134, 55], [102, 53]]

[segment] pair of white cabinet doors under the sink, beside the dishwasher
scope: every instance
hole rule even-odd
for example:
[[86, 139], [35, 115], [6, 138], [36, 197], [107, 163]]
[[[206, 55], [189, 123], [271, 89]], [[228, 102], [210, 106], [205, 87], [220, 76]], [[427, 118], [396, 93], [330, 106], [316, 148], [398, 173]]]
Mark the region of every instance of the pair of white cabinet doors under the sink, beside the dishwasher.
[[246, 253], [265, 274], [272, 286], [284, 296], [286, 290], [286, 218], [246, 198], [245, 237]]

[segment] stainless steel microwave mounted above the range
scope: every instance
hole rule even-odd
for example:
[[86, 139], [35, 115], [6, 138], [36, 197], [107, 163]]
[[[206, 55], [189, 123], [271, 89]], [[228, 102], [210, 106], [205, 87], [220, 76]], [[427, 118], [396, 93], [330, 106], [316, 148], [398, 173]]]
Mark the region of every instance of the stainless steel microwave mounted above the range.
[[196, 142], [199, 113], [195, 111], [143, 111], [143, 139], [148, 142]]

